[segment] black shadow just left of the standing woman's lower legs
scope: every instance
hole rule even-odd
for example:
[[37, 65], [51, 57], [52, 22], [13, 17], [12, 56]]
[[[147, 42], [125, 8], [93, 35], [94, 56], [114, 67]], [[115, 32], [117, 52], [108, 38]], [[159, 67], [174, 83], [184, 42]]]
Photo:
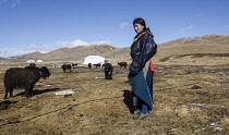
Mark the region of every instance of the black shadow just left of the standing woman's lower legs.
[[133, 108], [133, 91], [132, 90], [122, 90], [123, 94], [123, 102], [125, 103], [125, 106], [129, 108], [130, 112], [133, 113], [134, 112], [134, 108]]

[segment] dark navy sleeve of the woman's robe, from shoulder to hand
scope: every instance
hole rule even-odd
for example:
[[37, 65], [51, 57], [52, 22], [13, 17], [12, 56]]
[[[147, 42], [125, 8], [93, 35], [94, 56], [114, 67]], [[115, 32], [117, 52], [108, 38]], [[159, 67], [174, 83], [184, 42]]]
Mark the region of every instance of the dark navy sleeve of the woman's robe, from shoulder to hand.
[[136, 44], [140, 44], [136, 46], [140, 51], [134, 53], [133, 61], [130, 65], [130, 71], [133, 71], [133, 73], [141, 71], [145, 66], [145, 63], [157, 52], [157, 45], [154, 41], [154, 37], [149, 34], [144, 34]]

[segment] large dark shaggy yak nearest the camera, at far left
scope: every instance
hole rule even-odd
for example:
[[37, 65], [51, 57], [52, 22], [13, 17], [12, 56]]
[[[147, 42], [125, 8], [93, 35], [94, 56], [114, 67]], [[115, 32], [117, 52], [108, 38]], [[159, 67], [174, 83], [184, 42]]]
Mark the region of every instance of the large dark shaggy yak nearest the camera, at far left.
[[4, 99], [8, 97], [10, 91], [10, 97], [13, 97], [13, 88], [23, 87], [26, 91], [26, 97], [29, 98], [33, 96], [34, 85], [39, 81], [40, 77], [46, 79], [51, 74], [46, 66], [41, 69], [35, 66], [26, 68], [11, 68], [5, 71], [4, 74], [4, 87], [5, 95]]

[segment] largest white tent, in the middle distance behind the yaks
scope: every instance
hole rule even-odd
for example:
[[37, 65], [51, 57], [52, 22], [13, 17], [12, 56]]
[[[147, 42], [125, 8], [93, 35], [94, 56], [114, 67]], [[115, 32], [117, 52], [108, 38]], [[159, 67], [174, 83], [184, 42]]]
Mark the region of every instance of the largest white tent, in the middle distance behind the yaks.
[[88, 64], [88, 63], [92, 63], [92, 64], [97, 64], [97, 63], [104, 63], [105, 61], [105, 58], [103, 57], [99, 57], [99, 56], [88, 56], [86, 58], [84, 58], [82, 64]]

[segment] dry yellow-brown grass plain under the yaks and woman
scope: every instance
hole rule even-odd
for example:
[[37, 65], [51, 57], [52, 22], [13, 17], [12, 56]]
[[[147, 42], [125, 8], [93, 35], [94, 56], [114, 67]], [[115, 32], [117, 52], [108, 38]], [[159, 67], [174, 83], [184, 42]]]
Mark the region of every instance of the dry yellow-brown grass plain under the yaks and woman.
[[[104, 77], [103, 69], [79, 65], [72, 73], [63, 73], [59, 66], [52, 69], [51, 63], [39, 63], [50, 69], [51, 76], [38, 82], [34, 97], [27, 99], [23, 89], [14, 89], [15, 97], [3, 100], [4, 87], [0, 83], [0, 134], [228, 134], [228, 68], [224, 63], [181, 63], [156, 64], [154, 110], [145, 120], [132, 119], [128, 69], [114, 66], [113, 79], [106, 81], [95, 78]], [[0, 81], [7, 69], [26, 64], [1, 64]], [[204, 73], [209, 70], [216, 72]], [[201, 88], [192, 89], [195, 85]], [[65, 89], [76, 93], [55, 95]]]

